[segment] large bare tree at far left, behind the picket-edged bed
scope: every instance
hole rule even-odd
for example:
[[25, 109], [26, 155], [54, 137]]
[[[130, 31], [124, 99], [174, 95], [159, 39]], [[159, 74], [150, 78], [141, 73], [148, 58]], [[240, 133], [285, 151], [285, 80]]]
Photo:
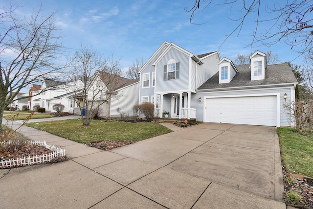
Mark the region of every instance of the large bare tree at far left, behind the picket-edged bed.
[[42, 16], [39, 9], [20, 17], [12, 7], [0, 14], [0, 129], [5, 107], [22, 88], [58, 76], [64, 67], [56, 64], [62, 43], [54, 15]]

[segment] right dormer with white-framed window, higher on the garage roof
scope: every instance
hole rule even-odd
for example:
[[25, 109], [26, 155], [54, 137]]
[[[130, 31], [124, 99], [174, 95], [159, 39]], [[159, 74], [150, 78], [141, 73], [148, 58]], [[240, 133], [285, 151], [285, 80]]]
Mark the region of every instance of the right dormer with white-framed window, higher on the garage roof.
[[266, 54], [261, 51], [254, 52], [250, 57], [251, 60], [251, 81], [264, 80], [266, 65]]

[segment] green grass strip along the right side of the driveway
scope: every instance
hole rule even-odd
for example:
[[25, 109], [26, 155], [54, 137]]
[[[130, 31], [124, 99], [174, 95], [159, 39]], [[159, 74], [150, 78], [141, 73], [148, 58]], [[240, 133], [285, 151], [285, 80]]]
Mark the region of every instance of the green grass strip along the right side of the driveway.
[[313, 177], [313, 134], [278, 128], [282, 164], [289, 173]]

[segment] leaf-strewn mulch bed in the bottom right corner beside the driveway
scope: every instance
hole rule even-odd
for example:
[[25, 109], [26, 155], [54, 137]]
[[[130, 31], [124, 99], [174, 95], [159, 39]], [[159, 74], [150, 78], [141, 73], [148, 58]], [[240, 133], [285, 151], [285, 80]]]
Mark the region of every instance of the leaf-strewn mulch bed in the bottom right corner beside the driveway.
[[[283, 169], [283, 175], [284, 177], [290, 177], [291, 174], [287, 173], [285, 169]], [[291, 177], [296, 180], [296, 184], [294, 186], [289, 185], [286, 181], [284, 181], [284, 190], [285, 190], [285, 196], [290, 191], [297, 192], [301, 197], [303, 201], [302, 206], [293, 206], [295, 208], [299, 209], [313, 209], [313, 182], [308, 181], [305, 178], [299, 179], [295, 177]]]

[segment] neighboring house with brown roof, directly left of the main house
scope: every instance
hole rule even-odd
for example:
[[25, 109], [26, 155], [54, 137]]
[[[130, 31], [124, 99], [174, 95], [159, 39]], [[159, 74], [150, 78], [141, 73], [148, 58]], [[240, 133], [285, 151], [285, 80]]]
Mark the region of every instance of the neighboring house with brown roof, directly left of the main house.
[[133, 115], [133, 106], [138, 104], [139, 79], [127, 79], [103, 71], [97, 71], [88, 88], [88, 100], [93, 106], [100, 103], [100, 116], [120, 117], [117, 108]]

